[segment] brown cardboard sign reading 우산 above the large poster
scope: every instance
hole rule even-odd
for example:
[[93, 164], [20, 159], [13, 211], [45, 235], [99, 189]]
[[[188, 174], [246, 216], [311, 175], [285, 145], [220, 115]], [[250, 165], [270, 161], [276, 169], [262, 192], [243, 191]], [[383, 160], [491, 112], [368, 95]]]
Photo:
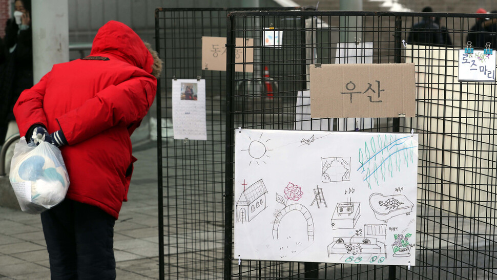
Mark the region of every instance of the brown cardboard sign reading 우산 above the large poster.
[[312, 118], [416, 115], [414, 63], [310, 66]]

